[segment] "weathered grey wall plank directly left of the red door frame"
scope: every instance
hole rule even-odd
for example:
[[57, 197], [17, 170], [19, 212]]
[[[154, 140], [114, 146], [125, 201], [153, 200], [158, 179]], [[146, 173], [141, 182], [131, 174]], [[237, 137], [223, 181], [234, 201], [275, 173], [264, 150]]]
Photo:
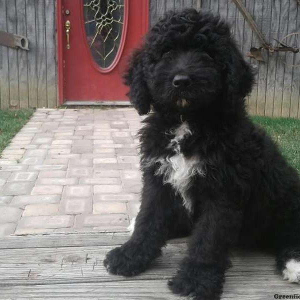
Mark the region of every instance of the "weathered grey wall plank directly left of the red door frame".
[[45, 0], [45, 42], [46, 42], [46, 78], [47, 107], [56, 106], [56, 42], [55, 42], [55, 7], [53, 0]]

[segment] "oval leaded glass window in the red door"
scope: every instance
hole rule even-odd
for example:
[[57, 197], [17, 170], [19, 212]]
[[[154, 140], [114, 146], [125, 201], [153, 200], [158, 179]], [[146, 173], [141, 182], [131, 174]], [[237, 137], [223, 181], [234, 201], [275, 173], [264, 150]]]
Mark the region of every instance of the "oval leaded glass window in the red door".
[[123, 46], [126, 0], [83, 0], [87, 44], [95, 62], [113, 67]]

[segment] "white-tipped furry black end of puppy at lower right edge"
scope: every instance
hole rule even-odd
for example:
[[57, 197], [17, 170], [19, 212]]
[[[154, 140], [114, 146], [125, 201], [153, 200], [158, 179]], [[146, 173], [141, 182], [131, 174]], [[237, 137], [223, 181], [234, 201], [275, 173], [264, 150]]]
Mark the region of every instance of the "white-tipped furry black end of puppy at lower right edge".
[[284, 280], [300, 283], [300, 245], [283, 249], [276, 262]]

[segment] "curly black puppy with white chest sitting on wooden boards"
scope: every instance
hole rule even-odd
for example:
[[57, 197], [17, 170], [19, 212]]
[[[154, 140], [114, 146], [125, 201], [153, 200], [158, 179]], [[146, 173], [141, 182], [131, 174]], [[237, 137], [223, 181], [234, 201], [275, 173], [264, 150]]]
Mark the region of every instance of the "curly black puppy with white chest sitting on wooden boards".
[[168, 12], [133, 54], [125, 75], [139, 114], [143, 189], [131, 238], [104, 260], [134, 275], [169, 237], [188, 234], [170, 289], [219, 299], [232, 246], [275, 251], [278, 269], [300, 280], [300, 180], [248, 118], [253, 75], [218, 16]]

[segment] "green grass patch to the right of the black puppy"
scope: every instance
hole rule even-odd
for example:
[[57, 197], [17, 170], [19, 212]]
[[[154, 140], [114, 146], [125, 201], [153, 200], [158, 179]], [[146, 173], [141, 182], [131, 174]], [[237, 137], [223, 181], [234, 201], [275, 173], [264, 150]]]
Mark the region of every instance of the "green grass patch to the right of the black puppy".
[[266, 129], [289, 164], [300, 173], [300, 120], [265, 116], [253, 116], [252, 119]]

